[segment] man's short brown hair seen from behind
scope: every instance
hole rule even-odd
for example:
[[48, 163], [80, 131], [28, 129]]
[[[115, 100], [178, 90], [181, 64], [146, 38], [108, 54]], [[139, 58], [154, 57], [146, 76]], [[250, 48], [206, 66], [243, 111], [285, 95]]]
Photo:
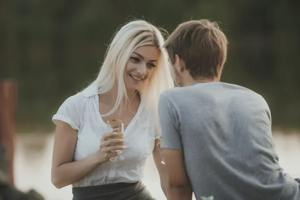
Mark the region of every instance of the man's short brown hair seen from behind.
[[227, 56], [227, 38], [216, 22], [190, 20], [177, 26], [166, 39], [172, 64], [177, 54], [193, 78], [220, 78]]

